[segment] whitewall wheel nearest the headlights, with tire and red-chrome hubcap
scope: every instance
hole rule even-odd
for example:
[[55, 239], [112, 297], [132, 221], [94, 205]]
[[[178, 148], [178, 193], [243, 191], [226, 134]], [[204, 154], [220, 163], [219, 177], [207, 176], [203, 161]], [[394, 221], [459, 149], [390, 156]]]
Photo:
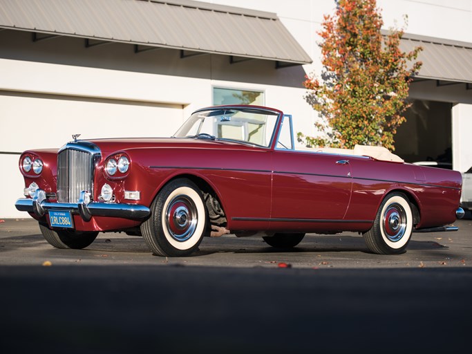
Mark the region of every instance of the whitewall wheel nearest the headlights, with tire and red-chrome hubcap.
[[182, 257], [198, 248], [207, 232], [207, 210], [200, 189], [187, 178], [165, 185], [141, 225], [144, 241], [157, 256]]

